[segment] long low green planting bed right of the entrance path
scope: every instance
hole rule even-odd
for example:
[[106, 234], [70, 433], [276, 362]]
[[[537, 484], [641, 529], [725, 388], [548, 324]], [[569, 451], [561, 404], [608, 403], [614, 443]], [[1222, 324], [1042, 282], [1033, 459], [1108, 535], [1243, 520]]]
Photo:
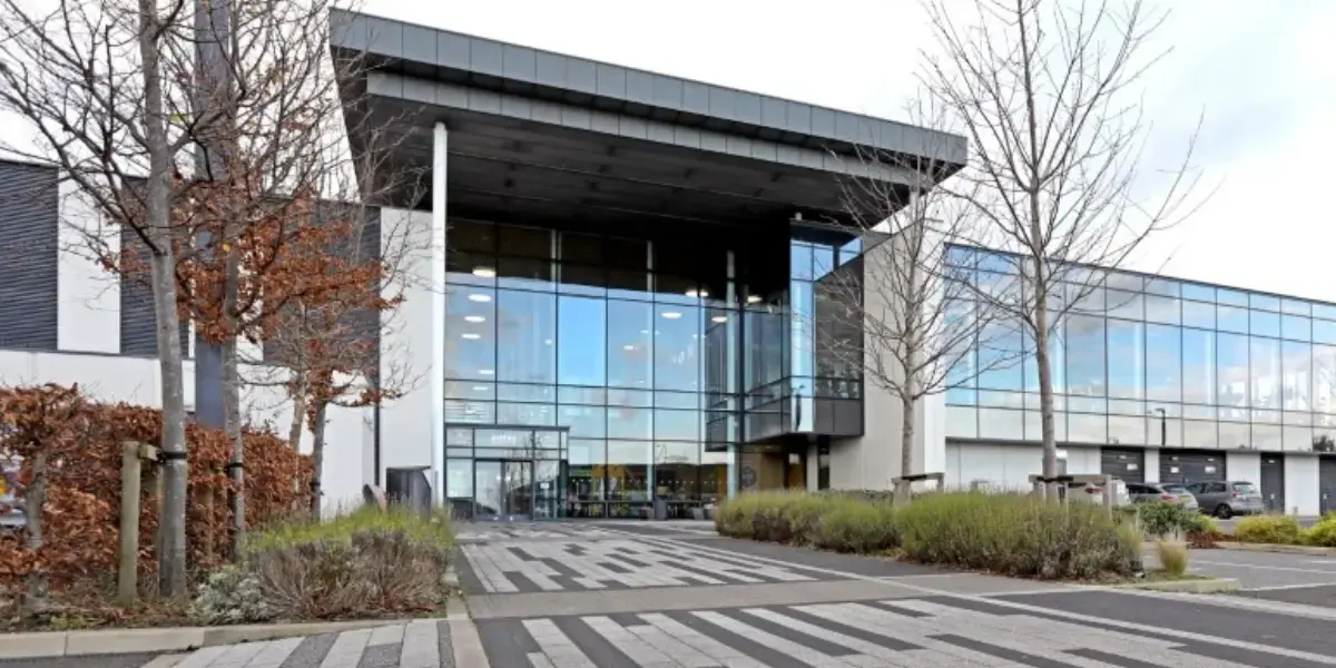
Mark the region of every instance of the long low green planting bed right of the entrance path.
[[804, 493], [740, 494], [715, 516], [720, 534], [898, 558], [1014, 577], [1121, 580], [1141, 570], [1142, 533], [1102, 508], [1021, 494], [884, 500]]

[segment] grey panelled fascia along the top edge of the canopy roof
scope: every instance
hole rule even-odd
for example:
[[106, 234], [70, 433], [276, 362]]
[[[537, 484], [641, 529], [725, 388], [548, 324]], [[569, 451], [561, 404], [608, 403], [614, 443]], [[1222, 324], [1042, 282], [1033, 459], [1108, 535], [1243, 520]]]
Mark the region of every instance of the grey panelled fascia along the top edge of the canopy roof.
[[959, 135], [361, 12], [330, 13], [333, 49], [366, 53], [389, 71], [836, 152], [860, 146], [955, 166], [966, 160]]

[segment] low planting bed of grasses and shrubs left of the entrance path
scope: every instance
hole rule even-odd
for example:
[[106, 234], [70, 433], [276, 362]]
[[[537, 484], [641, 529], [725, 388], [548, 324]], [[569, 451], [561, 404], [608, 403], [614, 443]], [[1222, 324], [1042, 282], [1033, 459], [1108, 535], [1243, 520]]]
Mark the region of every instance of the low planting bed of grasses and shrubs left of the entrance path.
[[[363, 508], [325, 521], [295, 517], [247, 533], [239, 557], [192, 572], [186, 600], [146, 592], [111, 603], [115, 582], [90, 582], [41, 616], [0, 617], [0, 631], [76, 631], [436, 616], [456, 596], [446, 578], [454, 534], [444, 513]], [[154, 581], [143, 582], [151, 589]]]

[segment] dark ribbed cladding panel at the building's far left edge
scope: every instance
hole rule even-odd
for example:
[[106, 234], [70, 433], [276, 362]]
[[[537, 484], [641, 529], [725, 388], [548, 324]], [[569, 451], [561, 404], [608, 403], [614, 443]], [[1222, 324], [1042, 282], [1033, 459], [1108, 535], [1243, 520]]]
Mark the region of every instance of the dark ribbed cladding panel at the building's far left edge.
[[0, 349], [56, 350], [59, 238], [56, 170], [0, 162]]

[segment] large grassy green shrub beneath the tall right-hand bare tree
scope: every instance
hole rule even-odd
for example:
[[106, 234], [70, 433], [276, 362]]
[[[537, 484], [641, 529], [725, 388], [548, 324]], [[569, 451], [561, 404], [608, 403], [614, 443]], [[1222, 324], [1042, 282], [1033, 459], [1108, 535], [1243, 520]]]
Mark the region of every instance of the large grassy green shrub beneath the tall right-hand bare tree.
[[900, 548], [916, 561], [1042, 578], [1130, 574], [1141, 540], [1086, 505], [1019, 494], [947, 493], [896, 513]]

